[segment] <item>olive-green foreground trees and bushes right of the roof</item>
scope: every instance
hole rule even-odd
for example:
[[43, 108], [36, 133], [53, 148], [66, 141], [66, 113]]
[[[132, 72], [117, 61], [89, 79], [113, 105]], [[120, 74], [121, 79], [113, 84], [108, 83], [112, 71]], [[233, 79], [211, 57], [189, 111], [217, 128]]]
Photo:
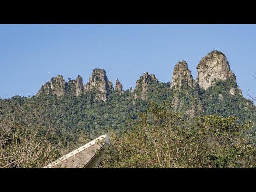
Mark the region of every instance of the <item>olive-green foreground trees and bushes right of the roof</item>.
[[250, 144], [252, 122], [216, 115], [187, 123], [170, 104], [148, 104], [127, 129], [110, 131], [111, 146], [101, 167], [226, 168], [256, 167]]

